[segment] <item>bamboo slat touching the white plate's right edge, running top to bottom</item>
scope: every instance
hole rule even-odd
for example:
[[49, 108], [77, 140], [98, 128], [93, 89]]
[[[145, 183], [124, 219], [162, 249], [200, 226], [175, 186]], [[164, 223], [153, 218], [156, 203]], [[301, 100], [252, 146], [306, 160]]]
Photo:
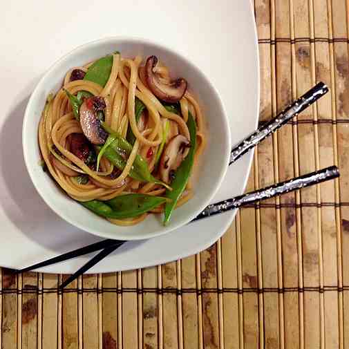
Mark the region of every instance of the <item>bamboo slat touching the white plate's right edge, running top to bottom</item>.
[[[269, 5], [269, 6], [268, 6]], [[258, 36], [266, 39], [271, 37], [271, 18], [270, 3], [263, 5], [263, 1], [256, 2], [256, 10], [260, 8], [260, 17], [256, 18]], [[258, 21], [258, 18], [261, 18]], [[271, 55], [272, 50], [269, 45], [260, 47], [260, 71], [261, 71], [261, 101], [260, 101], [260, 122], [267, 122], [272, 117], [272, 77], [271, 77]], [[275, 139], [275, 136], [274, 136]], [[258, 147], [257, 156], [255, 156], [255, 167], [258, 169], [255, 175], [255, 186], [265, 187], [275, 182], [274, 171], [268, 169], [274, 168], [274, 147], [273, 138], [269, 138]], [[276, 201], [267, 200], [266, 203], [274, 204]], [[278, 200], [279, 202], [279, 200]], [[274, 207], [261, 208], [256, 212], [258, 215], [257, 223], [260, 222], [260, 241], [258, 247], [261, 248], [261, 264], [258, 266], [258, 288], [262, 287], [279, 287], [282, 280], [279, 281], [281, 273], [281, 232], [278, 229], [278, 220], [280, 212]], [[258, 239], [259, 240], [259, 239]], [[278, 263], [275, 263], [278, 261]], [[262, 319], [264, 326], [263, 336], [267, 346], [280, 348], [281, 333], [283, 333], [283, 315], [279, 305], [283, 304], [283, 296], [278, 293], [260, 295], [263, 299]], [[260, 301], [261, 303], [261, 301]], [[261, 308], [261, 306], [260, 306]], [[278, 314], [279, 310], [279, 314]], [[280, 316], [281, 315], [281, 316]], [[260, 319], [261, 320], [261, 319]], [[282, 324], [281, 324], [282, 323]], [[261, 332], [261, 330], [260, 330]], [[283, 337], [283, 336], [282, 336]]]

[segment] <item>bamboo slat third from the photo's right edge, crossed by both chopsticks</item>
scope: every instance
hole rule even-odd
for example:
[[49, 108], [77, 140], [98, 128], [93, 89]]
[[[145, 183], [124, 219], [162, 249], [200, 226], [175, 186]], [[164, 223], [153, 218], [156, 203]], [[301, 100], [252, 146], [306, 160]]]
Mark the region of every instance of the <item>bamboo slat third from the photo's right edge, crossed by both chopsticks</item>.
[[[293, 1], [291, 39], [295, 37], [310, 37], [309, 3]], [[292, 97], [299, 95], [312, 86], [312, 53], [310, 43], [299, 43], [292, 46]], [[308, 120], [316, 117], [314, 108], [308, 108], [299, 115], [298, 120]], [[307, 173], [316, 169], [314, 124], [304, 124], [296, 127], [296, 149], [299, 151], [299, 173]], [[301, 203], [317, 202], [317, 188], [301, 191]], [[303, 285], [312, 287], [319, 285], [322, 270], [321, 225], [319, 225], [319, 209], [317, 207], [301, 208], [301, 238], [303, 254]], [[304, 292], [304, 342], [305, 348], [323, 348], [323, 312], [321, 312], [323, 295]]]

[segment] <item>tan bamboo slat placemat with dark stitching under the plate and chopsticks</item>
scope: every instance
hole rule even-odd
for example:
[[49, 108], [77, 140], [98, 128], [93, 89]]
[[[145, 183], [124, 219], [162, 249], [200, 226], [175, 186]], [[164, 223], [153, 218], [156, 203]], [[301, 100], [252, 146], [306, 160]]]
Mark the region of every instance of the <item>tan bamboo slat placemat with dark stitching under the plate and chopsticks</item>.
[[[0, 274], [0, 347], [349, 348], [349, 1], [256, 0], [261, 122], [330, 93], [256, 150], [247, 190], [337, 164], [341, 178], [240, 209], [206, 251], [133, 272]], [[232, 43], [233, 44], [233, 43]]]

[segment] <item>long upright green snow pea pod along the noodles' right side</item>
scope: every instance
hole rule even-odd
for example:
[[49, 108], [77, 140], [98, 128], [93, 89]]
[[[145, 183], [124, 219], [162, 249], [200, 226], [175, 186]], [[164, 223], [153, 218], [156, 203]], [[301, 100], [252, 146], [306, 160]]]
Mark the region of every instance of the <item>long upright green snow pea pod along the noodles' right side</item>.
[[182, 164], [180, 164], [180, 167], [178, 167], [174, 175], [174, 179], [171, 182], [172, 190], [166, 191], [166, 197], [171, 199], [171, 201], [167, 202], [164, 207], [164, 225], [169, 223], [173, 209], [176, 207], [178, 199], [187, 186], [191, 169], [193, 168], [194, 164], [194, 155], [196, 150], [196, 124], [190, 112], [188, 113], [187, 126], [190, 133], [191, 146], [188, 155], [186, 156], [185, 160], [182, 161]]

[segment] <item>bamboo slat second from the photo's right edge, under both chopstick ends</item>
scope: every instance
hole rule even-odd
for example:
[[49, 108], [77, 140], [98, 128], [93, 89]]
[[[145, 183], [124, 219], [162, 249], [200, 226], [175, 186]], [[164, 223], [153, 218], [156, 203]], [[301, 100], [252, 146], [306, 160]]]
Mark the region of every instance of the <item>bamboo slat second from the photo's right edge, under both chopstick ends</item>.
[[[316, 37], [318, 32], [321, 35], [328, 37], [328, 26], [326, 23], [328, 19], [324, 16], [321, 17], [321, 13], [326, 11], [315, 11], [315, 3], [311, 3], [312, 13], [319, 12], [319, 17], [313, 15], [314, 21], [312, 21], [311, 37]], [[326, 3], [320, 3], [323, 8]], [[312, 18], [312, 17], [310, 17]], [[319, 20], [321, 18], [322, 20]], [[320, 33], [319, 33], [320, 35]], [[329, 46], [327, 43], [314, 43], [312, 45], [312, 68], [315, 76], [312, 81], [321, 79], [325, 81], [328, 86], [331, 87], [330, 69], [329, 69]], [[325, 115], [331, 114], [330, 96], [326, 96], [326, 99], [317, 104], [317, 109], [314, 117], [317, 120], [321, 120]], [[327, 127], [325, 127], [327, 126]], [[334, 153], [331, 149], [333, 145], [333, 127], [326, 124], [315, 124], [315, 135], [318, 140], [315, 142], [315, 151], [317, 152], [317, 169], [326, 166], [326, 163], [334, 163]], [[317, 188], [317, 202], [321, 200], [329, 202], [334, 200], [334, 183], [326, 183]], [[318, 209], [318, 214], [321, 216], [319, 227], [320, 238], [322, 240], [322, 246], [320, 247], [320, 256], [322, 258], [321, 270], [320, 270], [320, 285], [336, 285], [337, 284], [337, 227], [335, 222], [334, 207], [322, 207]], [[334, 276], [334, 277], [333, 277]], [[338, 331], [338, 296], [337, 294], [320, 294], [321, 300], [321, 347], [322, 348], [338, 348], [339, 347], [339, 331]], [[332, 309], [332, 316], [334, 321], [328, 321], [330, 315], [330, 309]], [[327, 321], [326, 321], [327, 320]]]

